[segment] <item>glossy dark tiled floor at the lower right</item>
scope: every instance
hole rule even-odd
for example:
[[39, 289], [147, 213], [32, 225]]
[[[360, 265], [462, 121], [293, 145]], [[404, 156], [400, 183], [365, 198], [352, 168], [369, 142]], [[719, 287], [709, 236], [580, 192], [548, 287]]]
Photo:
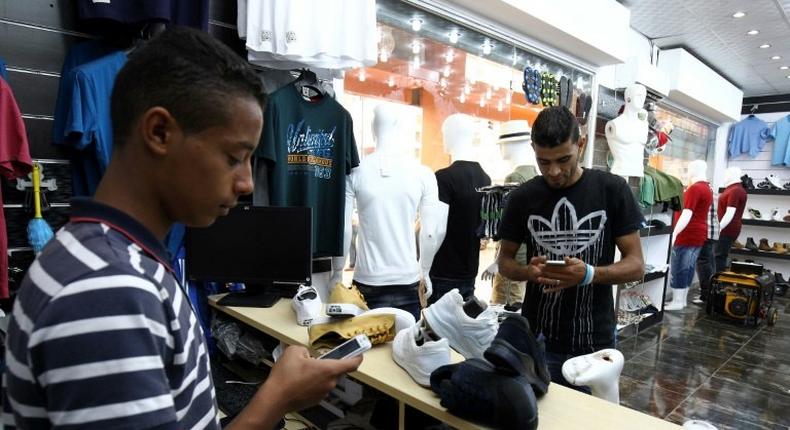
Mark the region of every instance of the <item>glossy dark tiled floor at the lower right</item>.
[[743, 327], [690, 305], [621, 339], [620, 403], [679, 424], [790, 428], [790, 298], [775, 304], [774, 327]]

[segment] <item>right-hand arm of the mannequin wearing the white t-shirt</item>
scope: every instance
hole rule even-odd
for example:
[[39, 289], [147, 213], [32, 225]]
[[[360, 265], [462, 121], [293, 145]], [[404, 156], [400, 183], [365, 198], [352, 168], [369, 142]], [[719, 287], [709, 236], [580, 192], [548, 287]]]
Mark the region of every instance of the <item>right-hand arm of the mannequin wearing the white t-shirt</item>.
[[420, 207], [420, 271], [425, 282], [425, 298], [433, 293], [431, 266], [447, 234], [447, 214], [450, 207], [438, 199]]

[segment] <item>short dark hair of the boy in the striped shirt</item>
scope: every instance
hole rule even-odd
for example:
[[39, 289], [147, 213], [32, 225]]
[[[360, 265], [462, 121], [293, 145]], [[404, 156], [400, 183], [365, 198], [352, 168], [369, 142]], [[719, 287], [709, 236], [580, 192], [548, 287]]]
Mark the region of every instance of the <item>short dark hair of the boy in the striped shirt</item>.
[[114, 145], [122, 145], [134, 122], [161, 106], [185, 133], [227, 121], [230, 97], [262, 103], [255, 71], [222, 42], [186, 27], [173, 27], [135, 49], [115, 79], [111, 116]]

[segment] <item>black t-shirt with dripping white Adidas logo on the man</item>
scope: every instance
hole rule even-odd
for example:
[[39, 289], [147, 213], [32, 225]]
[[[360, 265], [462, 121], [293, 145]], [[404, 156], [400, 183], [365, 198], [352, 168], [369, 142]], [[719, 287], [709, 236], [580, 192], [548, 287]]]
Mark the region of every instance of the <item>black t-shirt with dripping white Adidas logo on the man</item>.
[[[643, 217], [619, 176], [584, 169], [569, 188], [552, 189], [542, 176], [510, 194], [500, 227], [503, 239], [526, 243], [527, 261], [576, 257], [593, 266], [614, 262], [615, 238], [638, 230]], [[528, 283], [522, 313], [551, 352], [587, 354], [614, 342], [611, 285], [591, 284], [556, 293]]]

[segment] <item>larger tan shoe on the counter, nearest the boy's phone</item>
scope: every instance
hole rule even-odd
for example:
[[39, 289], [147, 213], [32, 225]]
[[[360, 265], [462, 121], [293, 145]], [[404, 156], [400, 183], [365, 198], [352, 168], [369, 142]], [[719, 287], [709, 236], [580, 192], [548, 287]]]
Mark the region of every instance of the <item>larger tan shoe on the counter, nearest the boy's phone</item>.
[[358, 334], [367, 335], [370, 343], [378, 345], [395, 339], [395, 315], [368, 314], [313, 324], [307, 328], [307, 334], [310, 346], [316, 351], [334, 348]]

